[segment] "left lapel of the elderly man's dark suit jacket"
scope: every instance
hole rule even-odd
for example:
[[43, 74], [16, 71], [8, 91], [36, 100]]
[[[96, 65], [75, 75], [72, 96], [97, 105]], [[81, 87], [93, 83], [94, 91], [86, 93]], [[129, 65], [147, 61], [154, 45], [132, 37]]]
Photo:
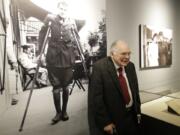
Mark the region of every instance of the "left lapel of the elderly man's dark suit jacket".
[[117, 72], [116, 72], [116, 69], [114, 67], [114, 64], [113, 64], [113, 61], [111, 59], [111, 57], [108, 57], [108, 61], [107, 61], [107, 69], [108, 69], [108, 72], [115, 84], [115, 86], [117, 87], [117, 89], [120, 91], [120, 85], [119, 85], [119, 80], [118, 80], [118, 76], [117, 76]]

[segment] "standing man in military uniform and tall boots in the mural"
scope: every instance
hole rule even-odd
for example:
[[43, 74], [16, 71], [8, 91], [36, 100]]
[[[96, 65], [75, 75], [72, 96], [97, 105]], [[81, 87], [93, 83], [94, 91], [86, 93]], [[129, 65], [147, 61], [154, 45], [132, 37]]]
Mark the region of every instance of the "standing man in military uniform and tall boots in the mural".
[[[67, 114], [68, 87], [73, 79], [72, 67], [75, 63], [76, 51], [75, 37], [72, 33], [72, 29], [76, 29], [76, 25], [72, 19], [67, 17], [67, 2], [60, 0], [57, 8], [58, 14], [51, 14], [46, 17], [45, 25], [39, 34], [39, 45], [42, 45], [48, 23], [51, 22], [51, 34], [48, 38], [46, 64], [49, 80], [53, 86], [52, 92], [56, 109], [56, 115], [52, 119], [52, 124], [60, 120], [66, 121], [69, 119]], [[62, 107], [60, 91], [62, 91]]]

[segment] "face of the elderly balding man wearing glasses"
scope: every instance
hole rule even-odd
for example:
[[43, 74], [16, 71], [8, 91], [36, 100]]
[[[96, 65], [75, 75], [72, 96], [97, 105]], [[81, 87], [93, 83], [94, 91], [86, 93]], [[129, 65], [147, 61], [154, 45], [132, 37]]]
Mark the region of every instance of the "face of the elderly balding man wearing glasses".
[[125, 43], [117, 43], [111, 56], [118, 66], [126, 66], [130, 60], [131, 51]]

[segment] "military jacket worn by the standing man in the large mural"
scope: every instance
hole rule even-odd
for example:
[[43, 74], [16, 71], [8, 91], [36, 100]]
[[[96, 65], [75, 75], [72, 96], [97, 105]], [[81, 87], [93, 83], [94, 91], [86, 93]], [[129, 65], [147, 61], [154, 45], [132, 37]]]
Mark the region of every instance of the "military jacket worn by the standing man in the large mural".
[[58, 15], [48, 15], [45, 19], [45, 25], [40, 31], [40, 45], [43, 43], [49, 22], [51, 22], [51, 34], [46, 54], [47, 66], [71, 67], [75, 62], [73, 23], [70, 19], [63, 19]]

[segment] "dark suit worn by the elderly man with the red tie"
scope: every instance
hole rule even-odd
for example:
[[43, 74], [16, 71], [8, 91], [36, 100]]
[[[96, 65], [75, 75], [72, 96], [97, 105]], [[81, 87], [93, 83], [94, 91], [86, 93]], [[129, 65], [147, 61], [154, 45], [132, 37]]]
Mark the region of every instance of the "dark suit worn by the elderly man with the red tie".
[[133, 106], [130, 110], [125, 106], [112, 59], [106, 57], [94, 64], [88, 93], [91, 134], [99, 135], [110, 123], [116, 125], [119, 135], [131, 134], [136, 128], [136, 116], [140, 114], [140, 98], [136, 71], [132, 62], [125, 67], [125, 72], [133, 97]]

